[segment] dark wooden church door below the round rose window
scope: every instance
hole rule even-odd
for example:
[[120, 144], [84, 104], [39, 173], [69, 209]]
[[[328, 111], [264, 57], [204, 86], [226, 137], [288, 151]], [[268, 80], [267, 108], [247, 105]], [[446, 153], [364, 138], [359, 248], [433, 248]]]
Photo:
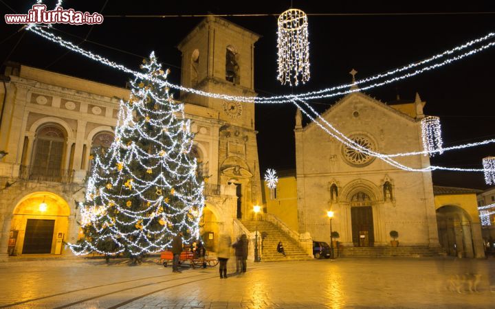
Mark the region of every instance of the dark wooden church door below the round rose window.
[[354, 247], [373, 247], [373, 209], [371, 206], [351, 207]]

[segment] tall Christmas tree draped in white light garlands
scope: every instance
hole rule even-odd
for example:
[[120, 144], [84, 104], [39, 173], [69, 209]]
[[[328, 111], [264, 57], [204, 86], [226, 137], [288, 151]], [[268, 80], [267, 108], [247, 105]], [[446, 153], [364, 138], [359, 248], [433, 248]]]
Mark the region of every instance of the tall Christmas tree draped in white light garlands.
[[94, 155], [80, 203], [84, 236], [70, 244], [78, 255], [138, 258], [163, 251], [179, 231], [186, 242], [199, 238], [203, 181], [190, 155], [190, 120], [164, 87], [168, 70], [153, 53], [143, 63], [129, 101], [120, 102], [115, 140]]

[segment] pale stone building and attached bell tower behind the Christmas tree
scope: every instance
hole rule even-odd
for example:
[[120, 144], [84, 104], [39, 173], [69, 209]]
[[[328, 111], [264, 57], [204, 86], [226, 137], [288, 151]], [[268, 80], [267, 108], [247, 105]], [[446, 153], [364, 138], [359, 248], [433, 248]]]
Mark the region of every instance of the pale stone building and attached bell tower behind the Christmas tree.
[[[254, 43], [259, 38], [208, 17], [179, 44], [182, 82], [210, 92], [256, 95]], [[10, 64], [0, 93], [0, 255], [64, 254], [79, 236], [82, 201], [94, 147], [108, 147], [119, 100], [129, 90]], [[203, 238], [242, 231], [236, 219], [261, 203], [254, 106], [175, 93], [195, 133], [192, 155], [207, 175]], [[2, 153], [3, 153], [2, 152]]]

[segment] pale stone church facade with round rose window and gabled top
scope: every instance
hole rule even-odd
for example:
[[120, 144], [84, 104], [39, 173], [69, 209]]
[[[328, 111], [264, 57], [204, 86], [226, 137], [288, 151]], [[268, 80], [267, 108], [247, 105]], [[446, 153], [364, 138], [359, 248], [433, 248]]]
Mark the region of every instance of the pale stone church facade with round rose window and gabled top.
[[[355, 92], [336, 102], [322, 118], [375, 152], [415, 152], [423, 150], [420, 120], [424, 105], [419, 95], [415, 102], [388, 105]], [[332, 225], [343, 247], [390, 247], [391, 231], [398, 232], [400, 247], [441, 251], [441, 245], [448, 246], [444, 237], [439, 239], [439, 212], [430, 172], [395, 168], [341, 144], [314, 122], [303, 127], [300, 111], [294, 132], [300, 233], [329, 241]], [[394, 159], [411, 168], [430, 165], [423, 155]], [[480, 222], [476, 203], [473, 205], [474, 211], [463, 216], [470, 222], [467, 247], [474, 247], [467, 256], [481, 257]], [[331, 222], [327, 211], [333, 211]]]

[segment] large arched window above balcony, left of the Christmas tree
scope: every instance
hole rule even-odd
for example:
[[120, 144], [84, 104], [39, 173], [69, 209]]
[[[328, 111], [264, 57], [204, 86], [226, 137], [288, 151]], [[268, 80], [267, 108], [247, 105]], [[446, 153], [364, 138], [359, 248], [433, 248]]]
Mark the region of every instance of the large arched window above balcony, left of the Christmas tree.
[[40, 127], [36, 131], [35, 144], [30, 175], [46, 176], [47, 179], [45, 180], [60, 176], [65, 149], [63, 128], [55, 124]]

